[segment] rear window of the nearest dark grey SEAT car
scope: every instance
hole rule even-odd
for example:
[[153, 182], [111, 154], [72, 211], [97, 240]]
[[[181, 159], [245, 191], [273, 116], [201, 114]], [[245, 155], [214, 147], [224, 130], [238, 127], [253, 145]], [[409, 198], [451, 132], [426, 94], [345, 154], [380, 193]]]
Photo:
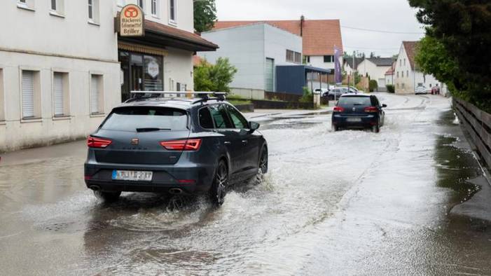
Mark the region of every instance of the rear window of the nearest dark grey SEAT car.
[[188, 113], [181, 109], [132, 106], [115, 109], [106, 119], [103, 130], [137, 131], [158, 128], [160, 130], [186, 130]]

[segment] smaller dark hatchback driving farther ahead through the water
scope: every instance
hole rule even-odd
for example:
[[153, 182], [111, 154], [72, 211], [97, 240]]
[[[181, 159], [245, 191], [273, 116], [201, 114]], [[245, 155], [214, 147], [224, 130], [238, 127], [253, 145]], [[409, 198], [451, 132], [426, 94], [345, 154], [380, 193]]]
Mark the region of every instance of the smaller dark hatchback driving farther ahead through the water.
[[373, 132], [379, 132], [380, 127], [384, 125], [385, 107], [387, 105], [381, 105], [375, 95], [343, 95], [333, 109], [333, 130], [338, 131], [345, 127], [369, 127]]

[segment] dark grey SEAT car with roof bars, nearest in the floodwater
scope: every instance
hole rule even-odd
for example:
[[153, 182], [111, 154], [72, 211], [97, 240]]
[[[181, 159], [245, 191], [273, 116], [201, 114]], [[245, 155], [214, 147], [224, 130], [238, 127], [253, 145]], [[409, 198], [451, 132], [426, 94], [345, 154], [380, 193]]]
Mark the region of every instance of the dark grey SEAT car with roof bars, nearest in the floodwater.
[[228, 186], [268, 171], [258, 127], [223, 99], [133, 99], [88, 137], [85, 184], [106, 201], [208, 193], [221, 205]]

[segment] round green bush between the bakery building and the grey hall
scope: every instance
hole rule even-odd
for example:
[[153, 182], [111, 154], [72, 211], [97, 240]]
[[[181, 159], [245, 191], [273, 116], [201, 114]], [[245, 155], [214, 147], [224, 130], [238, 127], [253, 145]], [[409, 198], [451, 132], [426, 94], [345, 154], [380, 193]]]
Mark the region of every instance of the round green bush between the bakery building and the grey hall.
[[194, 69], [195, 91], [230, 92], [228, 85], [236, 73], [228, 58], [219, 57], [214, 65], [205, 60]]

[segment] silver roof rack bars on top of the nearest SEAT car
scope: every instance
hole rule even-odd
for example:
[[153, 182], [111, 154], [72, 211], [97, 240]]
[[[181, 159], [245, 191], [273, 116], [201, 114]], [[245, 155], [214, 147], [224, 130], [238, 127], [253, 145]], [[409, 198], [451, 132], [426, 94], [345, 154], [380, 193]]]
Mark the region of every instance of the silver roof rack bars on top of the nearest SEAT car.
[[[161, 98], [161, 99], [184, 99], [180, 97], [186, 95], [188, 97], [199, 97], [200, 99], [195, 102], [206, 102], [209, 99], [225, 100], [227, 92], [201, 92], [201, 91], [143, 91], [135, 90], [130, 92], [130, 99], [125, 103], [136, 102], [141, 99]], [[215, 97], [210, 97], [214, 95]], [[195, 103], [193, 102], [193, 104]]]

